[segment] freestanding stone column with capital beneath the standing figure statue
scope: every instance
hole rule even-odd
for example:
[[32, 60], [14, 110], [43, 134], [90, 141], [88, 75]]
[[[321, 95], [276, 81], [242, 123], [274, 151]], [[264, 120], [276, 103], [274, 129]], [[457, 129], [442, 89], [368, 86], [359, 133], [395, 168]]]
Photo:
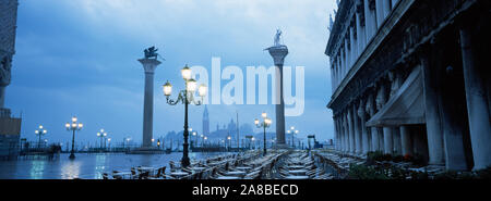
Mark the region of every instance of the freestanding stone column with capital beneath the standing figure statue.
[[[283, 64], [288, 55], [286, 46], [268, 48], [271, 56], [273, 56], [276, 70], [276, 146], [286, 148], [285, 141], [285, 100], [283, 91]], [[279, 87], [278, 87], [279, 86]], [[279, 104], [278, 104], [279, 100]]]

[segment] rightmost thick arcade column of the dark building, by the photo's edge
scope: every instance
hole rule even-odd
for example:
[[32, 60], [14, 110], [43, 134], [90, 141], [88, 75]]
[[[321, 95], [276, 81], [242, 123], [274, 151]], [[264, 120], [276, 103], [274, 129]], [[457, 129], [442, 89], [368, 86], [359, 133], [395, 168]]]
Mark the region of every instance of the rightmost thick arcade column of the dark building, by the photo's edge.
[[491, 166], [490, 105], [486, 86], [489, 73], [484, 73], [488, 70], [484, 64], [478, 63], [479, 39], [475, 28], [476, 25], [460, 28], [460, 45], [474, 169], [481, 169]]

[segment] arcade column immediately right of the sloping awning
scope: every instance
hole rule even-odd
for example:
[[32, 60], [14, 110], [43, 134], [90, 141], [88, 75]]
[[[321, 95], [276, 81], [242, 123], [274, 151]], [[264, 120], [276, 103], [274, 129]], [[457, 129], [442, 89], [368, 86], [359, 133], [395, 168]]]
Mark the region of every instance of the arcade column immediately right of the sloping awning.
[[428, 58], [429, 52], [421, 54], [421, 67], [423, 77], [423, 97], [424, 97], [424, 118], [427, 122], [428, 135], [428, 152], [430, 155], [429, 163], [435, 165], [443, 165], [443, 131], [441, 129], [440, 105], [438, 104], [438, 89], [435, 72], [432, 72], [432, 66]]

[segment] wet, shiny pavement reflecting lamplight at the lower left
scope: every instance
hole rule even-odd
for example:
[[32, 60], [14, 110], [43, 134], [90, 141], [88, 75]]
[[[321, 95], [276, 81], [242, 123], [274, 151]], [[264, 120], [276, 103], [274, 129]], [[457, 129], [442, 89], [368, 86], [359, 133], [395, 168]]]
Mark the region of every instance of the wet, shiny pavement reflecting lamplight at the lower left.
[[[224, 153], [190, 153], [192, 159], [203, 159]], [[168, 166], [169, 161], [179, 162], [181, 152], [170, 154], [123, 154], [123, 153], [77, 153], [76, 159], [69, 160], [62, 153], [58, 159], [22, 159], [0, 161], [0, 179], [71, 179], [101, 178], [101, 173], [130, 171], [135, 166]]]

